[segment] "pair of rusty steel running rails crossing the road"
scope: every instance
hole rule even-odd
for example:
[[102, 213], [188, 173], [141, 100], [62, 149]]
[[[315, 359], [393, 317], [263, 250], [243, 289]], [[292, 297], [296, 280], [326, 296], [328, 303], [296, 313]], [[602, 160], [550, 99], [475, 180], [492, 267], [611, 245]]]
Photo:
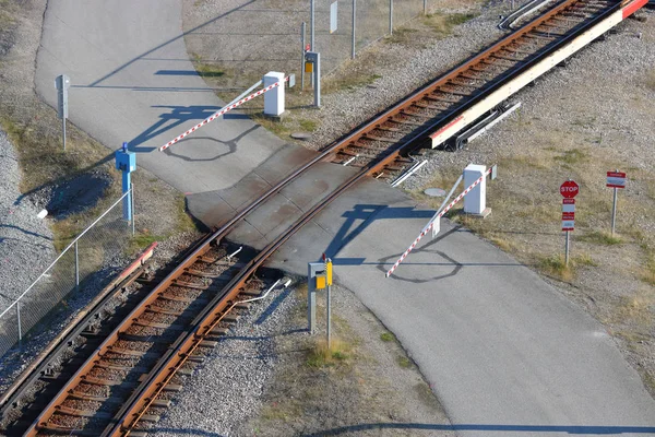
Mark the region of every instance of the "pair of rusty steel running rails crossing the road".
[[[153, 296], [156, 296], [159, 292], [162, 292], [163, 290], [168, 287], [172, 283], [172, 280], [175, 277], [177, 277], [177, 275], [181, 274], [180, 272], [183, 272], [184, 269], [187, 269], [199, 257], [201, 257], [203, 253], [205, 253], [210, 249], [210, 244], [212, 241], [219, 240], [221, 238], [225, 237], [225, 235], [227, 235], [227, 233], [229, 231], [231, 231], [231, 228], [234, 228], [234, 226], [238, 222], [240, 222], [246, 215], [248, 215], [252, 210], [254, 210], [260, 204], [262, 204], [263, 202], [269, 200], [272, 196], [278, 193], [284, 187], [286, 187], [293, 180], [296, 180], [296, 178], [298, 176], [300, 176], [301, 174], [307, 172], [314, 164], [317, 164], [318, 162], [321, 162], [321, 161], [325, 161], [331, 155], [333, 155], [335, 152], [337, 152], [340, 149], [345, 147], [347, 144], [357, 141], [357, 139], [364, 137], [367, 132], [369, 132], [369, 131], [376, 129], [378, 126], [380, 126], [380, 123], [383, 123], [384, 121], [391, 119], [391, 117], [393, 117], [394, 115], [402, 113], [403, 109], [412, 106], [414, 103], [421, 99], [424, 96], [429, 94], [431, 91], [448, 83], [449, 81], [454, 79], [456, 75], [458, 75], [461, 72], [465, 71], [466, 69], [471, 68], [472, 66], [483, 62], [486, 58], [491, 56], [495, 51], [500, 50], [503, 46], [511, 44], [514, 39], [525, 35], [526, 33], [536, 28], [537, 26], [539, 26], [541, 23], [546, 22], [550, 17], [555, 16], [556, 14], [560, 13], [561, 11], [565, 10], [567, 8], [570, 8], [571, 5], [579, 3], [579, 2], [580, 2], [580, 0], [568, 0], [564, 3], [553, 8], [551, 11], [547, 12], [545, 15], [533, 20], [525, 27], [523, 27], [519, 31], [515, 31], [512, 34], [510, 34], [509, 36], [502, 38], [501, 40], [493, 44], [491, 47], [487, 48], [483, 52], [476, 55], [475, 57], [465, 61], [461, 66], [451, 70], [445, 75], [439, 78], [437, 81], [419, 88], [413, 95], [410, 95], [410, 96], [404, 98], [403, 101], [398, 102], [397, 104], [393, 105], [386, 111], [381, 113], [378, 116], [373, 117], [371, 121], [362, 123], [359, 128], [357, 128], [352, 133], [343, 137], [338, 141], [336, 141], [333, 144], [325, 147], [320, 154], [312, 157], [303, 165], [299, 166], [290, 175], [288, 175], [286, 178], [284, 178], [279, 182], [277, 182], [275, 185], [275, 187], [273, 187], [271, 190], [269, 190], [267, 192], [262, 194], [260, 198], [258, 198], [257, 200], [251, 202], [248, 206], [242, 209], [238, 214], [236, 214], [234, 217], [228, 220], [224, 225], [222, 225], [219, 229], [217, 229], [213, 234], [211, 234], [203, 244], [201, 244], [184, 261], [182, 261], [179, 264], [179, 267], [174, 272], [168, 274], [166, 276], [166, 279], [164, 279], [163, 282], [159, 285], [157, 285], [155, 287], [155, 290], [153, 290], [153, 292], [151, 292], [151, 294], [146, 297], [146, 299], [144, 299], [144, 305], [147, 305], [147, 303], [152, 302]], [[498, 79], [498, 81], [487, 84], [489, 86], [486, 90], [483, 90], [480, 93], [477, 93], [477, 94], [474, 93], [474, 95], [471, 96], [471, 98], [468, 98], [467, 101], [465, 101], [464, 104], [454, 105], [455, 107], [452, 110], [446, 111], [445, 115], [443, 115], [443, 116], [440, 116], [440, 118], [438, 120], [429, 121], [429, 122], [425, 123], [421, 128], [412, 132], [410, 139], [396, 143], [395, 146], [386, 150], [386, 152], [385, 152], [386, 154], [384, 156], [377, 160], [374, 163], [369, 163], [369, 164], [365, 165], [360, 172], [358, 172], [353, 177], [350, 177], [348, 180], [346, 180], [344, 184], [342, 184], [335, 191], [327, 194], [321, 202], [319, 202], [319, 204], [314, 205], [308, 213], [303, 214], [290, 227], [290, 229], [287, 233], [285, 233], [283, 236], [281, 236], [281, 238], [278, 240], [276, 240], [273, 244], [271, 244], [270, 246], [267, 246], [262, 252], [260, 252], [260, 255], [258, 255], [255, 257], [255, 259], [253, 259], [251, 262], [249, 262], [248, 265], [246, 268], [243, 268], [241, 270], [241, 272], [229, 282], [228, 286], [224, 287], [225, 292], [221, 293], [221, 296], [216, 296], [213, 299], [212, 304], [210, 306], [207, 306], [206, 309], [203, 311], [202, 320], [199, 320], [199, 319], [194, 320], [194, 322], [192, 323], [192, 326], [194, 328], [192, 330], [190, 330], [187, 334], [183, 334], [183, 336], [180, 336], [178, 339], [178, 341], [175, 342], [174, 350], [176, 352], [169, 351], [168, 355], [165, 356], [165, 359], [159, 361], [159, 364], [157, 364], [155, 366], [155, 369], [153, 369], [148, 373], [146, 380], [139, 386], [139, 389], [133, 393], [133, 395], [131, 398], [131, 400], [136, 400], [136, 398], [141, 398], [141, 400], [139, 402], [134, 402], [131, 405], [130, 405], [130, 402], [128, 402], [128, 404], [121, 410], [121, 412], [119, 412], [120, 420], [114, 424], [114, 427], [111, 429], [106, 429], [106, 433], [108, 435], [118, 435], [122, 432], [129, 433], [129, 429], [133, 428], [133, 426], [136, 423], [136, 421], [139, 420], [139, 417], [141, 417], [145, 413], [145, 411], [147, 409], [147, 404], [150, 404], [150, 402], [152, 402], [152, 400], [155, 399], [157, 388], [160, 390], [164, 387], [165, 381], [166, 380], [169, 381], [176, 371], [176, 370], [174, 370], [172, 375], [168, 375], [168, 374], [165, 375], [160, 370], [166, 370], [166, 369], [170, 368], [170, 365], [174, 363], [174, 361], [178, 359], [178, 358], [181, 359], [181, 364], [183, 364], [183, 362], [190, 356], [190, 352], [180, 352], [181, 347], [183, 346], [186, 351], [191, 351], [191, 352], [195, 347], [198, 347], [199, 339], [206, 336], [206, 334], [211, 331], [211, 329], [221, 321], [221, 319], [225, 315], [225, 314], [222, 314], [222, 311], [228, 306], [229, 300], [234, 299], [237, 296], [240, 287], [242, 287], [245, 285], [247, 279], [250, 277], [250, 275], [252, 273], [254, 273], [254, 271], [265, 261], [265, 259], [272, 252], [274, 252], [282, 244], [284, 244], [288, 238], [290, 238], [290, 236], [293, 235], [294, 232], [299, 229], [303, 224], [306, 224], [315, 214], [318, 214], [318, 212], [325, 204], [331, 202], [333, 199], [335, 199], [337, 196], [340, 196], [343, 191], [347, 190], [348, 188], [350, 188], [352, 186], [354, 186], [355, 184], [360, 181], [367, 175], [370, 175], [370, 174], [374, 173], [378, 168], [382, 168], [384, 165], [388, 165], [389, 163], [393, 162], [395, 158], [397, 158], [401, 155], [401, 152], [404, 149], [407, 149], [409, 145], [415, 145], [415, 144], [420, 143], [421, 141], [426, 140], [426, 137], [425, 137], [426, 134], [428, 134], [432, 129], [448, 123], [450, 121], [450, 118], [452, 118], [453, 114], [455, 114], [456, 111], [462, 111], [467, 106], [473, 105], [475, 102], [484, 98], [495, 87], [499, 86], [499, 84], [511, 81], [511, 79], [513, 76], [515, 76], [515, 74], [517, 74], [521, 71], [523, 71], [524, 69], [528, 68], [529, 64], [534, 63], [536, 60], [543, 58], [544, 56], [548, 56], [549, 52], [556, 50], [558, 47], [565, 44], [568, 40], [570, 40], [575, 35], [580, 34], [581, 32], [584, 32], [584, 29], [590, 27], [592, 25], [592, 23], [598, 22], [604, 16], [606, 16], [608, 13], [610, 13], [611, 11], [619, 8], [619, 5], [620, 4], [617, 3], [616, 5], [612, 5], [611, 8], [609, 8], [604, 14], [596, 16], [594, 20], [590, 20], [588, 22], [584, 22], [584, 23], [577, 25], [576, 27], [574, 27], [575, 31], [570, 32], [570, 34], [568, 34], [565, 37], [561, 38], [560, 40], [553, 42], [553, 44], [548, 44], [546, 47], [543, 47], [540, 49], [540, 54], [537, 52], [537, 56], [535, 56], [534, 59], [532, 59], [529, 62], [524, 62], [524, 64], [522, 64], [522, 66], [516, 66], [516, 68], [510, 69], [509, 73], [501, 74], [501, 78]], [[213, 305], [213, 304], [215, 304], [215, 305]], [[132, 311], [126, 318], [126, 320], [130, 320], [134, 316], [135, 311], [136, 311], [136, 309], [134, 311]], [[199, 318], [201, 316], [199, 316]], [[122, 324], [121, 324], [121, 327], [122, 327]], [[120, 327], [117, 328], [110, 334], [110, 338], [116, 338], [116, 335], [118, 334], [119, 331], [120, 331]], [[99, 353], [103, 353], [104, 351], [106, 351], [106, 346], [107, 346], [108, 342], [109, 342], [109, 339], [107, 339], [107, 341], [104, 342], [103, 345], [100, 345], [98, 347]], [[84, 371], [88, 370], [90, 365], [92, 365], [92, 364], [93, 364], [92, 359], [90, 358], [90, 361], [87, 361], [85, 363], [85, 365], [82, 366], [82, 368], [75, 374], [75, 376], [71, 380], [78, 378]], [[177, 368], [177, 367], [174, 367], [174, 368]], [[60, 394], [55, 400], [52, 400], [52, 402], [48, 405], [47, 411], [44, 411], [44, 413], [41, 413], [41, 415], [39, 415], [37, 421], [33, 424], [32, 430], [35, 429], [35, 426], [38, 425], [38, 423], [41, 422], [44, 420], [44, 417], [48, 416], [48, 411], [50, 411], [51, 409], [55, 408], [55, 405], [57, 404], [57, 402], [56, 402], [57, 399], [59, 399], [59, 397], [62, 393], [66, 394], [66, 388], [62, 389]], [[145, 399], [145, 401], [144, 401], [144, 399]], [[134, 421], [134, 418], [135, 418], [135, 421]], [[124, 425], [124, 428], [122, 428], [123, 422], [127, 423], [127, 425]], [[28, 434], [28, 435], [35, 435], [35, 434]]]

